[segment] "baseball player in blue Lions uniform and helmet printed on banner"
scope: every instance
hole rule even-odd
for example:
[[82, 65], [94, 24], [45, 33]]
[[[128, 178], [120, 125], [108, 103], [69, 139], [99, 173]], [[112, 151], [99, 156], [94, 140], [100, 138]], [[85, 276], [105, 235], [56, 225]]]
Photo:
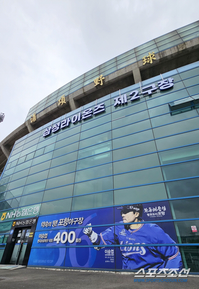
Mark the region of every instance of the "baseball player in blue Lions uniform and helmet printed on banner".
[[[182, 269], [182, 259], [178, 246], [144, 246], [145, 244], [175, 244], [158, 225], [141, 223], [143, 206], [126, 205], [121, 210], [122, 221], [98, 235], [91, 224], [83, 229], [93, 245], [118, 244], [122, 254], [122, 269], [139, 270], [144, 268], [178, 268]], [[125, 224], [135, 223], [135, 224]], [[136, 224], [137, 223], [137, 224]], [[128, 245], [128, 246], [122, 246]], [[95, 247], [100, 250], [101, 247]]]

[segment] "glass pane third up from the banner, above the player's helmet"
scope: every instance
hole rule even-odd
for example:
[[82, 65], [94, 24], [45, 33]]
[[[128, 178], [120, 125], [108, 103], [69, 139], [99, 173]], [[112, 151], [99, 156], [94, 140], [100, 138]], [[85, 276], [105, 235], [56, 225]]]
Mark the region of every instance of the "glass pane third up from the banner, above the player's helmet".
[[147, 154], [113, 163], [113, 173], [134, 171], [160, 165], [158, 154]]

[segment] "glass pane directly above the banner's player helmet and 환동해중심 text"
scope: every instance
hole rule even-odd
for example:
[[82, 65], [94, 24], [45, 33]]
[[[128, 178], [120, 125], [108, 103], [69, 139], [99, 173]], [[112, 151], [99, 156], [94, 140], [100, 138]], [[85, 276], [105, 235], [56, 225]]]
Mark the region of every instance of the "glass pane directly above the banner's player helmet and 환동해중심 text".
[[132, 187], [114, 191], [114, 204], [147, 202], [153, 200], [166, 199], [167, 193], [163, 183]]

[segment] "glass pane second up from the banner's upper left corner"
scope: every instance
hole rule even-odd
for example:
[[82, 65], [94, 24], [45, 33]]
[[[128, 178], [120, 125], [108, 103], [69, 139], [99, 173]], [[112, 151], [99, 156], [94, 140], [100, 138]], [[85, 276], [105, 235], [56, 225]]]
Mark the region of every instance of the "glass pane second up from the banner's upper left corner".
[[71, 197], [73, 195], [73, 185], [63, 186], [47, 190], [43, 195], [43, 202], [59, 198]]

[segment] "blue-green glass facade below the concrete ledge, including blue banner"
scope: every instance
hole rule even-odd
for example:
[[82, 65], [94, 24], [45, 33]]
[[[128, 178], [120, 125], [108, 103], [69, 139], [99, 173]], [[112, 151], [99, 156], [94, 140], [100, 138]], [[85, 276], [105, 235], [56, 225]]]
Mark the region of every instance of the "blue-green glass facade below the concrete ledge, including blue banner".
[[[158, 83], [168, 78], [173, 86], [161, 90]], [[156, 91], [144, 94], [153, 83]], [[28, 266], [162, 268], [179, 248], [183, 268], [199, 272], [198, 83], [199, 61], [106, 95], [17, 140], [0, 180], [0, 259], [13, 221], [36, 216]], [[131, 100], [132, 91], [139, 98]], [[114, 106], [122, 97], [127, 101]], [[72, 123], [102, 103], [105, 111]], [[67, 118], [67, 127], [43, 137]], [[137, 230], [127, 238], [118, 208], [137, 204], [143, 213], [136, 224], [146, 232], [157, 224], [149, 235], [163, 230], [163, 240], [140, 240]], [[94, 242], [100, 250], [83, 232], [88, 224], [99, 236], [105, 232]], [[144, 257], [136, 267], [138, 254]], [[160, 261], [150, 267], [147, 258]]]

